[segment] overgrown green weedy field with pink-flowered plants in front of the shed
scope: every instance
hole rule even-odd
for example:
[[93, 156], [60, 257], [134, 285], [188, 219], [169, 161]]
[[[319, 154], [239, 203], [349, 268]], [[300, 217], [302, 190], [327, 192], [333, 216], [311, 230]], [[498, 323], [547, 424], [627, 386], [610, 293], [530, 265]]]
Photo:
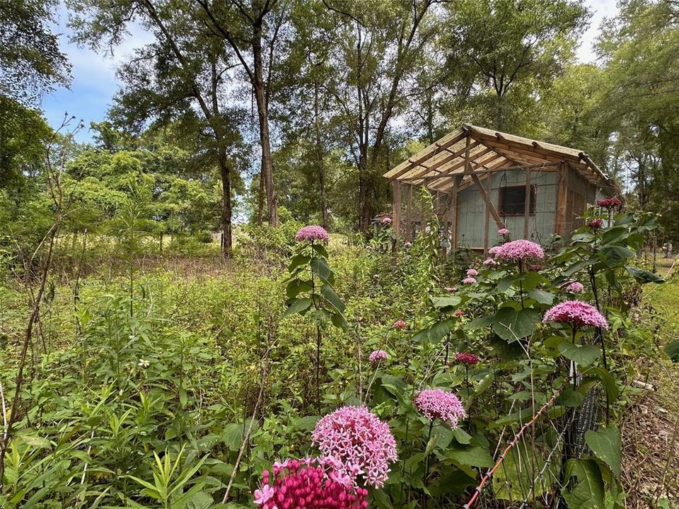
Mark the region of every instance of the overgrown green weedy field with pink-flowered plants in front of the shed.
[[[342, 462], [351, 451], [342, 437], [328, 446], [337, 428], [318, 421], [366, 406], [388, 431], [369, 454], [353, 451], [348, 467], [333, 463], [332, 479], [347, 474], [337, 477], [338, 493], [362, 499], [366, 488], [370, 507], [381, 509], [458, 507], [497, 446], [555, 392], [547, 425], [533, 426], [532, 450], [509, 455], [511, 468], [497, 472], [485, 500], [625, 504], [619, 430], [638, 403], [634, 363], [664, 346], [657, 318], [639, 320], [636, 308], [659, 281], [634, 263], [650, 218], [620, 214], [612, 226], [584, 226], [545, 257], [524, 242], [485, 262], [441, 257], [435, 217], [413, 245], [395, 249], [386, 223], [367, 246], [331, 235], [327, 248], [320, 238], [296, 242], [298, 226], [251, 228], [230, 262], [57, 252], [27, 351], [0, 506], [253, 508], [257, 498], [271, 509], [274, 472], [287, 468], [294, 479], [291, 467], [272, 464]], [[6, 423], [36, 280], [11, 259], [5, 269]], [[656, 296], [671, 306], [665, 288]], [[564, 318], [555, 306], [569, 300], [596, 304], [601, 315], [569, 308]], [[571, 454], [559, 432], [593, 395], [596, 426]], [[352, 440], [357, 448], [367, 439]], [[669, 503], [670, 488], [651, 505]]]

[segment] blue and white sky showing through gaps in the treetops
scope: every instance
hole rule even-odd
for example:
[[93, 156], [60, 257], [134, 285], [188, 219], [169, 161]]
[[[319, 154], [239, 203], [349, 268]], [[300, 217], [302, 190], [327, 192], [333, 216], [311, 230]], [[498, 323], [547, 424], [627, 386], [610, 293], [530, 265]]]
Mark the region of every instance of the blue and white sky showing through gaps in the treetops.
[[[596, 62], [593, 45], [604, 18], [617, 13], [615, 0], [585, 0], [591, 11], [590, 25], [584, 33], [577, 52], [580, 62]], [[56, 32], [62, 51], [65, 52], [73, 69], [71, 88], [59, 88], [42, 99], [42, 109], [47, 122], [54, 128], [59, 127], [64, 115], [74, 115], [82, 119], [86, 127], [90, 122], [101, 122], [106, 117], [110, 102], [118, 85], [115, 79], [115, 67], [124, 62], [134, 49], [153, 40], [153, 37], [139, 26], [132, 27], [131, 34], [113, 55], [102, 54], [88, 47], [78, 47], [69, 42], [69, 28], [66, 26], [66, 9], [62, 6], [57, 13]], [[80, 131], [78, 141], [90, 141], [91, 133], [87, 129]]]

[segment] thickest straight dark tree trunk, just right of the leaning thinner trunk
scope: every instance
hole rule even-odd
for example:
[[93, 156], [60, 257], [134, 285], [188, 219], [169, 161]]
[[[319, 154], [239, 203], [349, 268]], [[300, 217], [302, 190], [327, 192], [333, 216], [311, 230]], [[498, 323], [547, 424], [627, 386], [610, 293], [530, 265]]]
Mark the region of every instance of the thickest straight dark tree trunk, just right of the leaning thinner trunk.
[[[278, 225], [278, 210], [276, 191], [274, 189], [274, 171], [271, 157], [271, 137], [269, 135], [269, 105], [265, 93], [262, 62], [262, 24], [255, 23], [253, 26], [253, 64], [255, 101], [257, 103], [257, 117], [260, 120], [260, 144], [262, 145], [262, 176], [264, 187], [267, 192], [267, 206], [269, 211], [269, 224]], [[261, 177], [260, 177], [261, 178]]]

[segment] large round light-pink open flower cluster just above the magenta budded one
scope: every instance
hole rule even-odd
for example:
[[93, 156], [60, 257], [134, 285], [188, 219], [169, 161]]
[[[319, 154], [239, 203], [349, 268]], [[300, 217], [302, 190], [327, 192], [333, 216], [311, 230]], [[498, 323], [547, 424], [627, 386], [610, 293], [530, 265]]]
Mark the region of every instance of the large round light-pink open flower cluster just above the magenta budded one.
[[342, 406], [320, 419], [312, 441], [337, 465], [335, 472], [356, 487], [361, 475], [366, 484], [380, 488], [389, 476], [389, 463], [395, 462], [396, 440], [389, 426], [365, 406]]

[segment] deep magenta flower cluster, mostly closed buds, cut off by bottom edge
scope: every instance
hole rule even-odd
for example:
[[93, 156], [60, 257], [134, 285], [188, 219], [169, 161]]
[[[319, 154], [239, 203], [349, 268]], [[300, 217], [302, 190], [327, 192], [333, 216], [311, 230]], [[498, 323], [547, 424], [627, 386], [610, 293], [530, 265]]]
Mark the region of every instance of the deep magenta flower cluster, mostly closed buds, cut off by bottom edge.
[[262, 486], [255, 490], [260, 509], [366, 509], [368, 490], [352, 488], [327, 459], [285, 460], [276, 463], [273, 475], [262, 472]]

